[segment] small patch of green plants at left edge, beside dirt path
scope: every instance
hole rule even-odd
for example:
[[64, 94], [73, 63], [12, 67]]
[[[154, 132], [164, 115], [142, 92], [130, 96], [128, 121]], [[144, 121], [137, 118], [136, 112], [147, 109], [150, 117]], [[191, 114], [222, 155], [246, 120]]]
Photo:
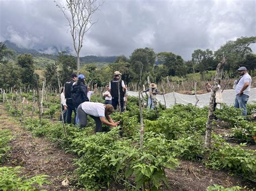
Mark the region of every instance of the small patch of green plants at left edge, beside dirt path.
[[8, 143], [12, 138], [10, 130], [0, 130], [0, 164], [4, 160], [5, 154], [11, 149]]

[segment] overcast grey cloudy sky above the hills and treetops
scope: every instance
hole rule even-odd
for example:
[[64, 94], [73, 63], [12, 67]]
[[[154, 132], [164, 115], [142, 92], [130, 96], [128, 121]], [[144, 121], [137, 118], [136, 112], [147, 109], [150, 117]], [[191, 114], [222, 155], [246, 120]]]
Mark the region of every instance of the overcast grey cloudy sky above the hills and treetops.
[[[215, 51], [227, 40], [256, 36], [256, 0], [105, 0], [93, 19], [82, 56], [130, 56], [151, 47], [190, 60], [194, 49]], [[0, 41], [52, 53], [53, 46], [73, 49], [68, 29], [53, 0], [0, 0]]]

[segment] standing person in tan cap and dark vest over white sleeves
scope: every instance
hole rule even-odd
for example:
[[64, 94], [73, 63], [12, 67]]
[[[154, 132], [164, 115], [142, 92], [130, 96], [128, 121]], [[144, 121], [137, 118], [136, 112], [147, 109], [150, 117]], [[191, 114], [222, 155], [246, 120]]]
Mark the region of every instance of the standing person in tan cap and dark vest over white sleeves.
[[[109, 91], [112, 96], [112, 105], [115, 110], [117, 109], [117, 105], [119, 105], [118, 96], [120, 94], [120, 107], [121, 107], [121, 112], [123, 112], [126, 87], [125, 87], [124, 81], [121, 80], [121, 76], [122, 74], [120, 72], [118, 71], [114, 72], [114, 79], [109, 82]], [[118, 93], [118, 89], [119, 89], [119, 93]]]

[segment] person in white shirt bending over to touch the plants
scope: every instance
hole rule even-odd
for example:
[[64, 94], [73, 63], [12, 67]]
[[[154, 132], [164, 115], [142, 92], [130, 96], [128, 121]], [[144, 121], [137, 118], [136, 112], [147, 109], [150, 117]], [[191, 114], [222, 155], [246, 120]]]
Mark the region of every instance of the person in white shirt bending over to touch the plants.
[[[120, 122], [113, 122], [110, 115], [114, 108], [110, 104], [83, 102], [77, 108], [77, 116], [80, 121], [81, 128], [85, 128], [87, 124], [87, 115], [95, 120], [95, 132], [102, 132], [102, 123], [111, 127], [117, 126]], [[107, 120], [106, 120], [106, 119]]]

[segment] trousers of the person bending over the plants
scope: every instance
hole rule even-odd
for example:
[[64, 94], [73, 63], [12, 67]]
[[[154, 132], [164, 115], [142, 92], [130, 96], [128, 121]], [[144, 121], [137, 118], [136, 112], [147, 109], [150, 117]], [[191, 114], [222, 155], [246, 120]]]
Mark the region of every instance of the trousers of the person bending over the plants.
[[[82, 105], [81, 104], [77, 108], [77, 116], [78, 116], [81, 128], [85, 128], [86, 125], [87, 125], [87, 114], [82, 109]], [[96, 123], [95, 132], [96, 133], [97, 132], [102, 132], [102, 121], [100, 121], [100, 118], [99, 117], [95, 117], [95, 116], [91, 116], [91, 115], [89, 115], [89, 116], [91, 118], [93, 118], [95, 123]]]

